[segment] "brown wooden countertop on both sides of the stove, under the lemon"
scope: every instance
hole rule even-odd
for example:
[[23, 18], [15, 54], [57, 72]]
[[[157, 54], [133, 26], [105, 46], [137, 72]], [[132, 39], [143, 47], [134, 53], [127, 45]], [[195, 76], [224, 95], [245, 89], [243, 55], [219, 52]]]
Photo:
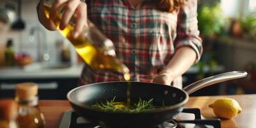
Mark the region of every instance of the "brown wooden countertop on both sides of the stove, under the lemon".
[[[231, 120], [221, 119], [221, 127], [256, 127], [256, 94], [189, 97], [186, 108], [200, 108], [205, 118], [216, 118], [209, 104], [220, 97], [230, 97], [239, 102], [242, 113]], [[1, 101], [1, 100], [0, 100]], [[39, 106], [46, 118], [46, 127], [59, 127], [62, 115], [72, 109], [67, 100], [40, 100]]]

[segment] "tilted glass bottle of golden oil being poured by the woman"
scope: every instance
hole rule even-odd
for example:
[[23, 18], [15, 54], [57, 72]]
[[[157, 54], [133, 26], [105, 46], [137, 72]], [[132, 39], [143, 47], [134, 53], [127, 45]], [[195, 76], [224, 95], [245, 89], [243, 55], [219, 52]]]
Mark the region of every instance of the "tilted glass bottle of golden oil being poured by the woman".
[[[51, 10], [51, 0], [45, 0], [44, 8], [45, 15], [49, 18], [49, 10]], [[61, 35], [67, 38], [75, 47], [77, 53], [84, 62], [94, 70], [115, 70], [122, 72], [125, 79], [129, 79], [129, 69], [121, 63], [115, 55], [113, 42], [106, 38], [95, 25], [87, 20], [88, 27], [83, 28], [83, 32], [78, 38], [73, 38], [74, 21], [76, 17], [72, 17], [65, 29], [60, 30], [61, 14], [63, 9], [60, 9], [56, 19], [52, 22], [56, 25]]]

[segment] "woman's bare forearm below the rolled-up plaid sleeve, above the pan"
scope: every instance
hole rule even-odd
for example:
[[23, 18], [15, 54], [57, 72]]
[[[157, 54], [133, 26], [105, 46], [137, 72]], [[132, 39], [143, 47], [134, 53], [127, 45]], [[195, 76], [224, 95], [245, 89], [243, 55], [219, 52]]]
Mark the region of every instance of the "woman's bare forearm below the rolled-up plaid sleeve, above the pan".
[[191, 47], [180, 47], [160, 74], [167, 73], [175, 78], [184, 74], [195, 63], [195, 60], [196, 52]]

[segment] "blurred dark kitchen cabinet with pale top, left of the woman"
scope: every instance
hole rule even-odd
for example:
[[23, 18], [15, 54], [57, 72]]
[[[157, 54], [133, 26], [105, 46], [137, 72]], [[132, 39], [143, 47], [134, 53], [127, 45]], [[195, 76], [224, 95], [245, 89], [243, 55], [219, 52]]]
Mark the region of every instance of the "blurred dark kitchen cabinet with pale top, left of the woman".
[[67, 92], [77, 87], [83, 65], [69, 68], [4, 68], [0, 70], [0, 98], [14, 97], [15, 84], [33, 82], [39, 85], [40, 99], [66, 99]]

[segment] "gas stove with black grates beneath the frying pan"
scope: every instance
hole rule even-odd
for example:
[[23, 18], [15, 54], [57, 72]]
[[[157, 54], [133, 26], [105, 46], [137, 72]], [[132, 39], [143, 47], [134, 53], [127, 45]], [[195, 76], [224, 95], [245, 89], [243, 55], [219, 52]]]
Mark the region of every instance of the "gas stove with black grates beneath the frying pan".
[[[175, 116], [173, 119], [163, 122], [162, 124], [153, 126], [152, 128], [220, 128], [220, 119], [205, 119], [201, 115], [198, 108], [184, 108], [182, 113]], [[61, 119], [60, 128], [104, 128], [102, 125], [90, 122], [83, 117], [77, 115], [76, 111], [70, 109], [66, 111]]]

